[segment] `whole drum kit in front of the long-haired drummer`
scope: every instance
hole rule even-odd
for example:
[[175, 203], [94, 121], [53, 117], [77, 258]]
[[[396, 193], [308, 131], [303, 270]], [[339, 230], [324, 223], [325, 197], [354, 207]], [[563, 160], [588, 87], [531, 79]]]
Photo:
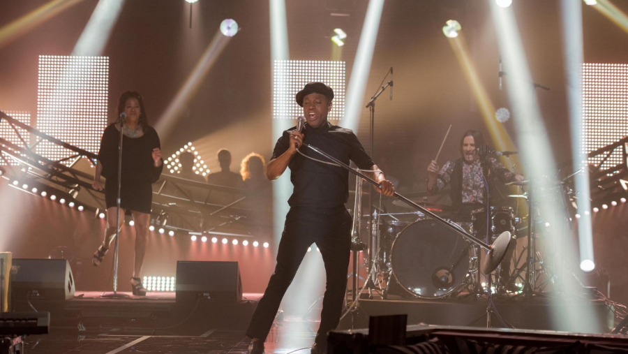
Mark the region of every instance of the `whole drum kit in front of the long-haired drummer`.
[[[355, 243], [359, 242], [361, 219], [371, 219], [370, 215], [361, 213], [361, 198], [359, 197], [361, 189], [361, 178], [358, 177], [356, 182], [357, 210], [354, 212], [353, 228]], [[517, 195], [519, 196], [521, 195]], [[426, 198], [415, 202], [435, 214], [446, 215], [450, 209], [447, 205], [426, 202]], [[405, 202], [398, 200], [392, 204], [407, 206]], [[399, 220], [400, 218], [406, 220]], [[528, 219], [530, 218], [516, 217], [512, 207], [491, 206], [488, 216], [486, 208], [479, 208], [471, 213], [471, 222], [455, 222], [455, 224], [459, 229], [474, 237], [484, 238], [488, 235], [487, 243], [493, 244], [505, 232], [512, 235], [513, 239], [527, 237]], [[485, 293], [486, 284], [481, 285], [483, 281], [480, 274], [480, 258], [486, 253], [454, 228], [437, 222], [424, 212], [384, 213], [381, 209], [375, 208], [371, 220], [375, 227], [371, 227], [371, 222], [368, 223], [368, 234], [371, 239], [369, 239], [369, 247], [364, 248], [368, 252], [365, 265], [369, 276], [366, 281], [371, 298], [373, 290], [380, 291], [382, 298], [386, 299], [389, 292], [395, 293], [395, 289], [403, 289], [401, 292], [397, 291], [396, 295], [410, 295], [421, 299]], [[488, 234], [486, 233], [487, 225]], [[530, 246], [534, 244], [528, 244], [524, 251], [530, 249]], [[537, 256], [532, 258], [540, 258], [536, 250], [532, 250], [532, 255]], [[523, 267], [512, 270], [511, 274], [505, 275], [509, 276], [509, 279], [500, 281], [500, 275], [504, 276], [504, 274], [495, 272], [493, 279], [499, 286], [495, 286], [493, 292], [504, 295], [520, 293], [521, 287], [511, 286], [511, 290], [507, 290], [506, 284], [514, 285], [521, 281], [521, 286], [523, 286], [526, 281], [521, 276], [523, 268], [530, 267], [530, 264], [525, 262], [526, 259], [529, 260], [530, 257], [524, 258], [523, 253], [515, 259], [516, 265], [521, 263], [520, 260], [523, 260], [524, 264]], [[507, 259], [507, 262], [511, 261]], [[535, 267], [536, 265], [532, 262], [532, 268]]]

